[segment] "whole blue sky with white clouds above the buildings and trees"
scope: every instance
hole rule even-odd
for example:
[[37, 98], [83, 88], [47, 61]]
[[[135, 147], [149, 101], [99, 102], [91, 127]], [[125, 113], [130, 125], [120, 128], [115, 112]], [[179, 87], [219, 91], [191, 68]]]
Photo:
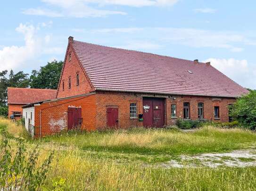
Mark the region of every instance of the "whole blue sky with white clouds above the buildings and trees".
[[64, 60], [67, 38], [211, 61], [256, 89], [256, 1], [24, 0], [1, 9], [0, 70]]

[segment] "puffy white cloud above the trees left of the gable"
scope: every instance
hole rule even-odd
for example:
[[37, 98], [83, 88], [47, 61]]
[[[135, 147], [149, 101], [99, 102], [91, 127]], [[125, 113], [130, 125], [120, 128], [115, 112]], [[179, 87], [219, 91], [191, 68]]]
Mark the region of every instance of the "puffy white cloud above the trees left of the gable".
[[40, 37], [37, 35], [37, 32], [41, 30], [40, 25], [35, 27], [29, 23], [19, 24], [16, 31], [24, 35], [25, 45], [4, 46], [0, 49], [0, 71], [4, 69], [16, 71], [30, 69], [31, 65], [35, 67], [38, 57], [53, 48], [50, 44], [50, 36]]

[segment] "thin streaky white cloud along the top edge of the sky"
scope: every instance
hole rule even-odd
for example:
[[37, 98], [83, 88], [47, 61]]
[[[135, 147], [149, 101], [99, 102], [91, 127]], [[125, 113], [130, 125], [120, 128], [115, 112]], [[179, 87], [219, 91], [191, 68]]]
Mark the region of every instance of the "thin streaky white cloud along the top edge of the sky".
[[[145, 7], [173, 6], [179, 0], [41, 0], [44, 3], [60, 9], [28, 8], [22, 13], [26, 15], [43, 15], [49, 17], [103, 17], [107, 15], [126, 15], [123, 11], [102, 10], [106, 5]], [[93, 8], [93, 6], [97, 8]]]

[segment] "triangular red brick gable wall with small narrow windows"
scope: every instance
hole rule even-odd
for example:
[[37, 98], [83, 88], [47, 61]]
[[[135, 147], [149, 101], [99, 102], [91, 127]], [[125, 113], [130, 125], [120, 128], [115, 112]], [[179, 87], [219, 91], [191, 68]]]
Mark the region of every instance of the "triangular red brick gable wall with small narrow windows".
[[[68, 61], [68, 55], [71, 53], [71, 61]], [[79, 85], [76, 85], [76, 74], [79, 73]], [[68, 88], [68, 79], [71, 78], [71, 88]], [[64, 91], [62, 82], [64, 81]], [[67, 50], [67, 58], [65, 61], [63, 73], [60, 79], [57, 98], [66, 98], [74, 95], [81, 95], [93, 91], [91, 85], [86, 78], [83, 68], [79, 64], [71, 46]]]

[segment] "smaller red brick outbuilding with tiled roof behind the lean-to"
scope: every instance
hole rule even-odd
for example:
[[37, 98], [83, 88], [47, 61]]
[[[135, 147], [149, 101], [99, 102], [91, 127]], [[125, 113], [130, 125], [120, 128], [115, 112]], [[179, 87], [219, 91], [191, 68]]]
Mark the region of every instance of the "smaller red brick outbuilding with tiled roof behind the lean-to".
[[37, 101], [55, 99], [57, 90], [8, 87], [7, 94], [8, 117], [13, 114], [15, 119], [20, 119], [22, 117], [22, 106]]

